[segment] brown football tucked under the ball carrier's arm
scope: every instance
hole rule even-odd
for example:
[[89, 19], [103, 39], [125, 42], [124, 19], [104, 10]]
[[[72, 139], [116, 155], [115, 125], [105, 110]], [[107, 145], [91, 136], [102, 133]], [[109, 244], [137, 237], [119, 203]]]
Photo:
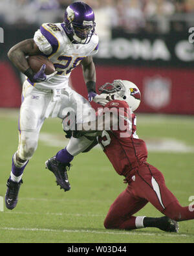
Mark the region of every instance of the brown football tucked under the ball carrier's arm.
[[46, 69], [45, 69], [46, 75], [50, 75], [50, 74], [54, 73], [54, 71], [55, 71], [54, 65], [45, 56], [42, 56], [42, 55], [28, 56], [27, 60], [28, 60], [28, 64], [29, 64], [30, 68], [35, 73], [37, 73], [39, 71], [39, 69], [41, 69], [41, 66], [43, 64], [46, 64]]

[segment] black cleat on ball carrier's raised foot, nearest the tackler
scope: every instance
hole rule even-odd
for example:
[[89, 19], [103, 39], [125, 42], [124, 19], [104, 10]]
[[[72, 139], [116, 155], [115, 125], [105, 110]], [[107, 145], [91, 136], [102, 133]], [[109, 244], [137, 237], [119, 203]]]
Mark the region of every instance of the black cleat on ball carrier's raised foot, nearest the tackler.
[[56, 176], [56, 183], [60, 186], [64, 191], [70, 190], [70, 183], [67, 176], [67, 170], [70, 170], [70, 163], [61, 163], [56, 157], [51, 157], [45, 162], [46, 169], [53, 172], [54, 176]]

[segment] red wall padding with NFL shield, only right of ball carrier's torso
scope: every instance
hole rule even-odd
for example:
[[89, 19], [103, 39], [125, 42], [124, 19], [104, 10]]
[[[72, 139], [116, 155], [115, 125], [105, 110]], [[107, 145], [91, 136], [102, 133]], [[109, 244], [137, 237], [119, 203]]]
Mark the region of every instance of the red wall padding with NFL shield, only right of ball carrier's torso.
[[[96, 75], [97, 87], [114, 79], [134, 82], [141, 91], [140, 113], [194, 115], [192, 70], [96, 65]], [[71, 82], [74, 89], [87, 98], [81, 68], [72, 72]]]

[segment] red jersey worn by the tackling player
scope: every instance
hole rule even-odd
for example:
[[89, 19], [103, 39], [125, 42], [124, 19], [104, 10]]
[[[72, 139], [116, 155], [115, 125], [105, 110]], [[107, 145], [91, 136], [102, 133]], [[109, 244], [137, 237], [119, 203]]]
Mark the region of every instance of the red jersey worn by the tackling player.
[[[103, 151], [113, 164], [114, 169], [118, 174], [125, 176], [126, 180], [130, 180], [131, 176], [142, 163], [147, 159], [146, 143], [142, 139], [138, 139], [136, 135], [136, 116], [129, 105], [124, 100], [113, 100], [105, 105], [103, 113], [108, 109], [114, 112], [118, 111], [120, 117], [124, 118], [125, 124], [130, 128], [124, 130], [103, 131], [98, 137], [98, 142], [103, 147]], [[127, 132], [129, 135], [124, 137]]]

